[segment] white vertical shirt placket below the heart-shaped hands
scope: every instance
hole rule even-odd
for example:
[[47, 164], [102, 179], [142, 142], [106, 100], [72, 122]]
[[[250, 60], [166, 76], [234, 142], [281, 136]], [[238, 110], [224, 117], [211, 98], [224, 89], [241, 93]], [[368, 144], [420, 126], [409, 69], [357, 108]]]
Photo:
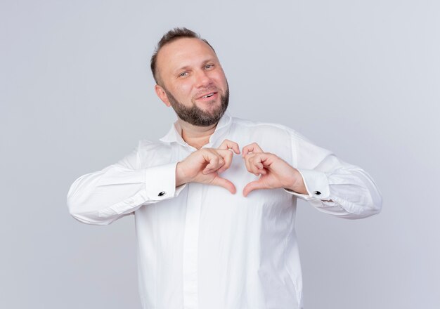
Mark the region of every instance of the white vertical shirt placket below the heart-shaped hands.
[[183, 237], [183, 308], [198, 309], [198, 242], [202, 184], [188, 183]]

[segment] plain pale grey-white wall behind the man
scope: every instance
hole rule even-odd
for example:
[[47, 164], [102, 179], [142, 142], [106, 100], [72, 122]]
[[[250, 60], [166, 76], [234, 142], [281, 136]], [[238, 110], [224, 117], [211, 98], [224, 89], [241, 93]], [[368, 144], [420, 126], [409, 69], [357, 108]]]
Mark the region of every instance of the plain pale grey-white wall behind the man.
[[132, 217], [82, 225], [65, 197], [174, 120], [148, 63], [162, 34], [209, 39], [231, 114], [362, 166], [383, 211], [300, 203], [307, 309], [440, 308], [436, 0], [1, 0], [0, 308], [139, 308]]

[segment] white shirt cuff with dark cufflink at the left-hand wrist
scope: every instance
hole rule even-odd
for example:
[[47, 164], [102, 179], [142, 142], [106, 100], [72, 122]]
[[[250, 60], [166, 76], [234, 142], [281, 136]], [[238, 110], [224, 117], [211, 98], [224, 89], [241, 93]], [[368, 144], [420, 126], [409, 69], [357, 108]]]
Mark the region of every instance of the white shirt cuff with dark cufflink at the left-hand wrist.
[[176, 188], [176, 165], [174, 162], [145, 169], [145, 190], [150, 199], [161, 201], [176, 197], [185, 188], [186, 184]]

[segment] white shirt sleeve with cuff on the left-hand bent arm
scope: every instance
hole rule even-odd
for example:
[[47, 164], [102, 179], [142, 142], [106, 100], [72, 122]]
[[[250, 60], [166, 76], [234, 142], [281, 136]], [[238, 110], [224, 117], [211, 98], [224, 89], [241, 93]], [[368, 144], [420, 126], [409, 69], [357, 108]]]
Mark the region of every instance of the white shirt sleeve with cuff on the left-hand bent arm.
[[179, 195], [177, 162], [136, 169], [138, 152], [102, 171], [79, 177], [67, 193], [70, 214], [88, 224], [107, 225], [139, 207]]

